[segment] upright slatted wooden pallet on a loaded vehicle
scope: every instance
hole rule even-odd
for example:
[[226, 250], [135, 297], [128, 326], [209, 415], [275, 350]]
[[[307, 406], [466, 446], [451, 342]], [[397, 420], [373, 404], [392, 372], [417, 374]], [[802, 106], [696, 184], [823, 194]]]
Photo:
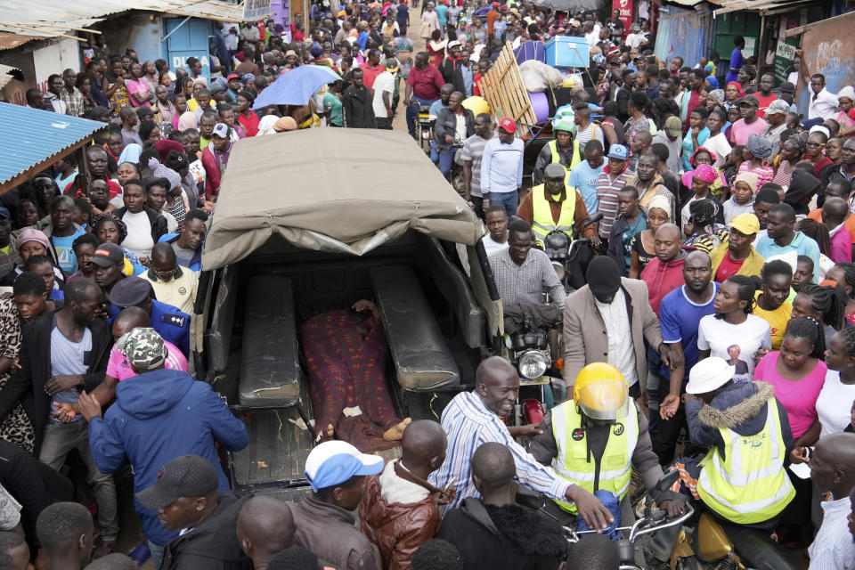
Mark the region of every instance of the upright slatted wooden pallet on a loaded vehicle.
[[520, 136], [531, 134], [530, 126], [537, 124], [537, 118], [510, 42], [505, 42], [493, 67], [478, 80], [478, 90], [490, 105], [496, 121], [513, 118], [517, 121]]

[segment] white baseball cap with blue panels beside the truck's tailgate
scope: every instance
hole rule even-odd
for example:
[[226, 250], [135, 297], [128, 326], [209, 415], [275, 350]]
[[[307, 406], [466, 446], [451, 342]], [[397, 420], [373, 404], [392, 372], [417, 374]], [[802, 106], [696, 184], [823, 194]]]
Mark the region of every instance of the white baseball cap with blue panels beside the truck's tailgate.
[[362, 453], [347, 442], [333, 440], [315, 447], [305, 458], [305, 478], [312, 489], [341, 485], [353, 476], [377, 475], [383, 470], [383, 458]]

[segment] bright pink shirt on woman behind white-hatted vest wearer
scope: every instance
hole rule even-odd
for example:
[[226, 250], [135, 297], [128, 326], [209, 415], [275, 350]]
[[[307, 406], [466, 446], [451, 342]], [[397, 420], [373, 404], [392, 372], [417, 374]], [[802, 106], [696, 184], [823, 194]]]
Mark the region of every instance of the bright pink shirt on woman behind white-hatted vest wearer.
[[808, 431], [817, 419], [817, 398], [826, 382], [828, 367], [821, 360], [798, 382], [791, 382], [778, 374], [778, 351], [763, 356], [754, 368], [754, 379], [767, 382], [775, 387], [775, 397], [784, 406], [786, 417], [790, 420], [793, 439], [798, 439]]

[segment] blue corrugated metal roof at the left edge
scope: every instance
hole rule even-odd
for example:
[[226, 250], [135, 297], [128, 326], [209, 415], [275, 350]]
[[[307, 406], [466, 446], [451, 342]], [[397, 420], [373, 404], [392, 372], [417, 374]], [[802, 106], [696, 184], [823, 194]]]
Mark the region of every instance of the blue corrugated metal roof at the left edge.
[[106, 126], [87, 118], [0, 103], [0, 184]]

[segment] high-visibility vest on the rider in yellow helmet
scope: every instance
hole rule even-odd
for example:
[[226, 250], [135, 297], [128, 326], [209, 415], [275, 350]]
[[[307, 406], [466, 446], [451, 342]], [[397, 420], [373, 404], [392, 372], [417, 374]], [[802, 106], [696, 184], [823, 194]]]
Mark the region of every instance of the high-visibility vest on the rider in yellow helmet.
[[[630, 407], [628, 417], [618, 418], [615, 425], [608, 429], [606, 449], [599, 461], [599, 481], [595, 488], [597, 463], [592, 456], [590, 460], [588, 458], [588, 436], [582, 429], [582, 414], [576, 411], [573, 400], [552, 408], [552, 436], [558, 447], [552, 468], [559, 476], [590, 493], [604, 490], [613, 493], [617, 499], [623, 499], [630, 486], [632, 453], [639, 441], [639, 416], [635, 406]], [[575, 505], [564, 501], [555, 502], [561, 509], [577, 514]]]

